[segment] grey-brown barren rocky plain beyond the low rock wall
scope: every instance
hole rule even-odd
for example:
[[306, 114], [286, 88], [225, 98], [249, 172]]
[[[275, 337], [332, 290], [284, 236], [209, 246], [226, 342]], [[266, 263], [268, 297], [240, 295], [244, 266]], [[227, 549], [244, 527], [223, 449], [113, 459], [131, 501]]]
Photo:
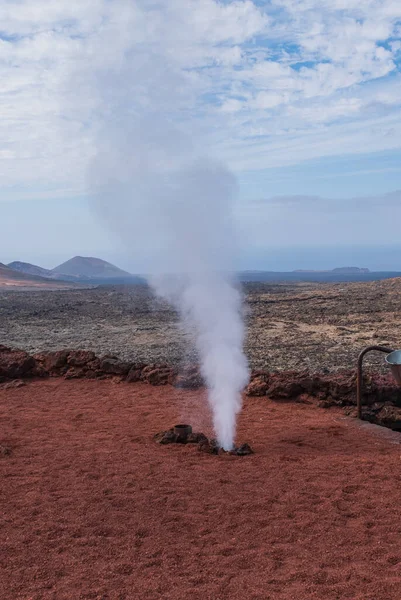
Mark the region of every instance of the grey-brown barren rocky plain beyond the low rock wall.
[[[401, 279], [247, 284], [246, 351], [254, 368], [354, 367], [369, 344], [398, 347]], [[29, 352], [82, 348], [146, 363], [192, 362], [192, 336], [146, 286], [0, 292], [0, 342]], [[382, 356], [376, 363], [383, 363]], [[377, 362], [379, 361], [379, 362]]]

